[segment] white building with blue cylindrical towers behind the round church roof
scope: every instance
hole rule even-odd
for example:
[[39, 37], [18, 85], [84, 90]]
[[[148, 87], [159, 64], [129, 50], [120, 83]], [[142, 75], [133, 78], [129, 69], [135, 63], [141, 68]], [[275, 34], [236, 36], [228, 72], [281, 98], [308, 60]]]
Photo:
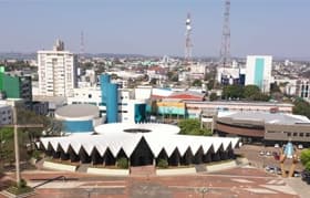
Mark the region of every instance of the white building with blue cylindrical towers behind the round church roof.
[[100, 76], [100, 86], [74, 88], [68, 104], [91, 104], [100, 110], [106, 123], [141, 123], [146, 121], [146, 100], [134, 97], [134, 92], [118, 88], [108, 74]]

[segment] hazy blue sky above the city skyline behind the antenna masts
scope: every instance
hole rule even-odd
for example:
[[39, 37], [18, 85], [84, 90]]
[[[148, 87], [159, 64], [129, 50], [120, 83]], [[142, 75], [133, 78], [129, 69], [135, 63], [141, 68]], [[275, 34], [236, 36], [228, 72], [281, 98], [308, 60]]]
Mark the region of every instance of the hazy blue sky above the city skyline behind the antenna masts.
[[[224, 0], [0, 0], [0, 52], [51, 49], [55, 39], [87, 53], [219, 56]], [[310, 58], [310, 0], [231, 0], [232, 56]]]

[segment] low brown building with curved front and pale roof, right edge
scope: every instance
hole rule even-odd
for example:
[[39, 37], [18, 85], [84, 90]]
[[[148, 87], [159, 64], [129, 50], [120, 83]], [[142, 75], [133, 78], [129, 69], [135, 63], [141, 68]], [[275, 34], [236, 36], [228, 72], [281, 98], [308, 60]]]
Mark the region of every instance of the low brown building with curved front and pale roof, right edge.
[[286, 144], [289, 139], [310, 145], [310, 119], [302, 115], [273, 112], [219, 112], [216, 131], [221, 136], [237, 136], [242, 142]]

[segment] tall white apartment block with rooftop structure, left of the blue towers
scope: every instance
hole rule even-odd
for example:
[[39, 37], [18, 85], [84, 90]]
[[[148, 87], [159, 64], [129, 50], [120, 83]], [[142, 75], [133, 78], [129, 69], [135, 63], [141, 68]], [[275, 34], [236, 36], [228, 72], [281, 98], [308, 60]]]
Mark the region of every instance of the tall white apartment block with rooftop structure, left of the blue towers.
[[39, 94], [43, 96], [71, 96], [76, 87], [76, 55], [64, 50], [56, 41], [53, 50], [38, 51]]

